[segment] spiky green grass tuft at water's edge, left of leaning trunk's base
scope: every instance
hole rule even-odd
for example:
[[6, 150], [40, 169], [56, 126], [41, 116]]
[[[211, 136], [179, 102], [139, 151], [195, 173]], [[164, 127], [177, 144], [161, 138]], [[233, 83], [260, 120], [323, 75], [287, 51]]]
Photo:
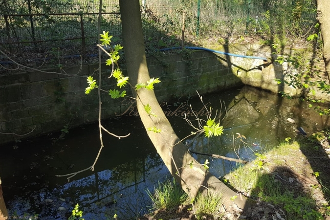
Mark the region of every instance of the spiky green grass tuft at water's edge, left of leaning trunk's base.
[[176, 184], [175, 179], [170, 181], [167, 179], [163, 183], [158, 182], [158, 186], [154, 188], [154, 193], [147, 189], [149, 197], [153, 201], [153, 209], [171, 210], [184, 203], [188, 195]]

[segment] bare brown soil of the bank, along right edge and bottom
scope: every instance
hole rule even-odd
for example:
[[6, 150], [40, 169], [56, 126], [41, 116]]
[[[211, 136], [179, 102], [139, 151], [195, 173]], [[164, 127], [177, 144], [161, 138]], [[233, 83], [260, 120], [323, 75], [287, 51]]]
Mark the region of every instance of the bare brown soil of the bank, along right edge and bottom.
[[[264, 160], [265, 168], [269, 173], [275, 175], [276, 181], [287, 189], [299, 195], [310, 195], [316, 202], [320, 213], [325, 213], [324, 205], [330, 199], [330, 145], [324, 133], [320, 137], [300, 136], [292, 149], [287, 149], [285, 154], [274, 154], [269, 152]], [[315, 136], [315, 135], [314, 135]], [[279, 166], [279, 161], [281, 165]], [[249, 164], [248, 164], [249, 165]], [[251, 165], [251, 164], [250, 164]], [[319, 176], [315, 177], [315, 172]], [[323, 190], [322, 190], [323, 189]], [[235, 190], [235, 189], [234, 189]], [[312, 193], [311, 193], [312, 192]], [[248, 195], [245, 195], [248, 197]], [[253, 198], [255, 206], [244, 213], [224, 212], [219, 220], [290, 220], [286, 218], [283, 207], [261, 201], [260, 198]], [[325, 220], [330, 220], [324, 214]], [[214, 220], [204, 216], [203, 220]], [[145, 215], [139, 220], [197, 220], [192, 206], [180, 205], [174, 210], [157, 210], [154, 213]]]

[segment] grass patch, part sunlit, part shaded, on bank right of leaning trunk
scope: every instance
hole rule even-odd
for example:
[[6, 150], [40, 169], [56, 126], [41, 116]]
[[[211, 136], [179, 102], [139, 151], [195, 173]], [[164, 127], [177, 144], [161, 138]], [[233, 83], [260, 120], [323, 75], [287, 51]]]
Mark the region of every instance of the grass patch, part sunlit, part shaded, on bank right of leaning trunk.
[[[316, 200], [312, 197], [312, 189], [306, 190], [297, 186], [292, 187], [288, 182], [282, 181], [284, 159], [296, 164], [300, 158], [298, 154], [300, 145], [297, 142], [283, 143], [266, 155], [263, 169], [255, 169], [254, 162], [246, 166], [239, 166], [225, 178], [238, 191], [254, 199], [272, 203], [286, 211], [289, 220], [319, 220], [323, 219], [318, 212]], [[301, 154], [302, 156], [303, 154]], [[260, 160], [259, 156], [256, 160]], [[271, 167], [270, 167], [271, 165]], [[268, 171], [269, 169], [269, 171]], [[275, 173], [277, 175], [275, 175]], [[276, 177], [276, 178], [275, 178]], [[283, 178], [283, 176], [282, 176]]]

